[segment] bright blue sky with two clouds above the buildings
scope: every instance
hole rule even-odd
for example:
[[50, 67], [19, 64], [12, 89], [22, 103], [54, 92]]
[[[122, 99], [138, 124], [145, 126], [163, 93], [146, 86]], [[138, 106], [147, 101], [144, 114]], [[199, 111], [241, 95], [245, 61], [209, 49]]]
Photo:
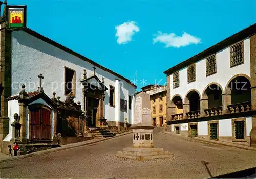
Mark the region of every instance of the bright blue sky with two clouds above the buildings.
[[137, 71], [138, 88], [164, 84], [163, 71], [256, 22], [255, 0], [7, 2], [27, 5], [38, 33], [127, 79]]

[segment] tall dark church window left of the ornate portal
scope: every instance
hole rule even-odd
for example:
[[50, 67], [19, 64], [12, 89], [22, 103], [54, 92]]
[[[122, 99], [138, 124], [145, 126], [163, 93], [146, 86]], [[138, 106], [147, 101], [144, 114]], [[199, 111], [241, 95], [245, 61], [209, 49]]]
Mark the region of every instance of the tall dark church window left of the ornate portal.
[[68, 95], [72, 91], [75, 96], [75, 74], [76, 72], [74, 70], [65, 67], [65, 95]]

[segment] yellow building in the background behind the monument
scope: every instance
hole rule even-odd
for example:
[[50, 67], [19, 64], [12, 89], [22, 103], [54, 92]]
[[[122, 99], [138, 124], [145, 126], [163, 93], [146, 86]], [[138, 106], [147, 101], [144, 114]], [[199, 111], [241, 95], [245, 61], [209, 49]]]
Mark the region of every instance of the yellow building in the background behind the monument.
[[166, 127], [166, 86], [147, 85], [141, 89], [150, 95], [152, 124]]

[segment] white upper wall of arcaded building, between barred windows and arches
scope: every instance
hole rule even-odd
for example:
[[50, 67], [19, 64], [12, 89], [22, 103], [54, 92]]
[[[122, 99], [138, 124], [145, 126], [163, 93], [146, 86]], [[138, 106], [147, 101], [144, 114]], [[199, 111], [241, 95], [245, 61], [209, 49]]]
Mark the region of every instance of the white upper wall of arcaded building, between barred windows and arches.
[[173, 89], [173, 75], [170, 75], [170, 99], [176, 94], [180, 94], [184, 101], [186, 93], [190, 89], [197, 89], [202, 96], [204, 88], [216, 82], [225, 89], [227, 82], [236, 74], [246, 74], [250, 76], [250, 39], [244, 40], [244, 64], [230, 68], [230, 50], [229, 47], [216, 54], [217, 73], [206, 77], [205, 59], [196, 63], [196, 81], [187, 83], [187, 67], [180, 70], [180, 86]]

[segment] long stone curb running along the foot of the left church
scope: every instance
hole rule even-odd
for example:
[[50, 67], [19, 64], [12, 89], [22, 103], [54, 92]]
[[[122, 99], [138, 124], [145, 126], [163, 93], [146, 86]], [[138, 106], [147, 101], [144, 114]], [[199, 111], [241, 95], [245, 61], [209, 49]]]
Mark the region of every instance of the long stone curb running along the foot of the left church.
[[68, 149], [71, 149], [71, 148], [74, 148], [74, 147], [81, 147], [81, 146], [91, 145], [91, 144], [95, 144], [95, 143], [98, 143], [98, 142], [102, 142], [102, 141], [105, 141], [105, 140], [113, 139], [113, 138], [116, 138], [116, 137], [124, 136], [126, 134], [131, 134], [131, 133], [132, 133], [132, 131], [129, 131], [129, 132], [125, 132], [125, 133], [122, 133], [122, 134], [117, 134], [116, 136], [113, 136], [113, 137], [102, 138], [102, 139], [92, 139], [94, 141], [88, 140], [88, 141], [84, 141], [84, 142], [71, 143], [71, 144], [63, 145], [63, 146], [60, 146], [60, 147], [57, 147], [57, 148], [51, 148], [51, 149], [48, 149], [48, 150], [41, 150], [41, 151], [33, 152], [31, 154], [25, 154], [25, 155], [22, 155], [22, 156], [17, 156], [15, 158], [3, 159], [3, 160], [0, 159], [0, 163], [19, 160], [19, 159], [25, 159], [25, 158], [29, 158], [29, 157], [32, 157], [32, 156], [49, 154], [49, 153], [56, 152], [56, 151], [68, 150]]

